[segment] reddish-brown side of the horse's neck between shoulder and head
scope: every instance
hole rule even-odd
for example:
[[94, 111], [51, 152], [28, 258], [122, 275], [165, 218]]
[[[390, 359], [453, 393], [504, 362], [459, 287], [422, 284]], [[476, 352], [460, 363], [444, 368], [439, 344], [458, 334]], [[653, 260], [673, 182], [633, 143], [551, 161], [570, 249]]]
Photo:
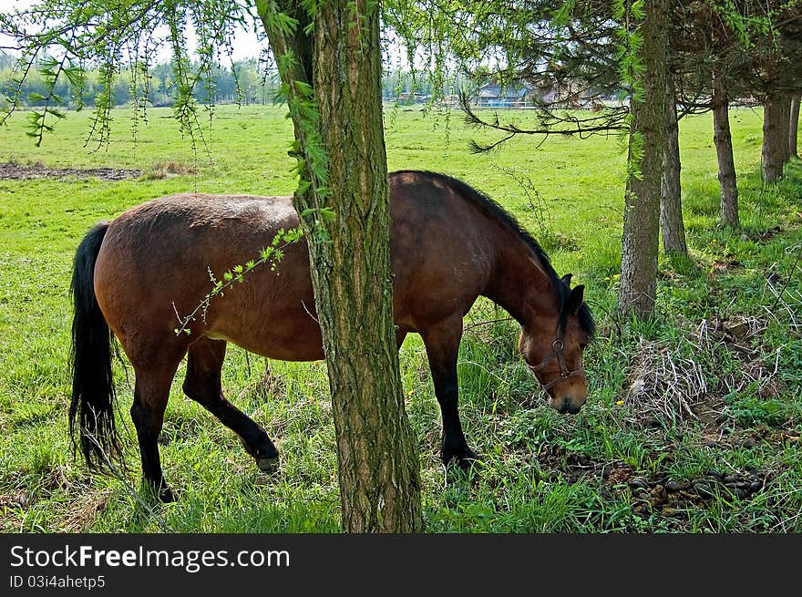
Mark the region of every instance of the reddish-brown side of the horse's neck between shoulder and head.
[[549, 276], [540, 269], [529, 245], [510, 235], [506, 228], [495, 235], [495, 265], [483, 294], [532, 329], [544, 315], [556, 316], [559, 304]]

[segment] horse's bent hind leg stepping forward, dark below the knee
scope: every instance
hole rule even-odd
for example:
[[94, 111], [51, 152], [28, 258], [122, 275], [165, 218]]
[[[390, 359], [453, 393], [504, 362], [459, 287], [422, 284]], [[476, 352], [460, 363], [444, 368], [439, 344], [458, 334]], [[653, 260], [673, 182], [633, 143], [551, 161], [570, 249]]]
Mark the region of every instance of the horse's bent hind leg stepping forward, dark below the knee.
[[245, 451], [266, 472], [278, 467], [279, 452], [270, 437], [252, 418], [226, 400], [222, 393], [221, 370], [226, 343], [222, 340], [201, 338], [190, 345], [187, 354], [187, 376], [184, 394], [206, 408], [221, 423], [240, 436]]

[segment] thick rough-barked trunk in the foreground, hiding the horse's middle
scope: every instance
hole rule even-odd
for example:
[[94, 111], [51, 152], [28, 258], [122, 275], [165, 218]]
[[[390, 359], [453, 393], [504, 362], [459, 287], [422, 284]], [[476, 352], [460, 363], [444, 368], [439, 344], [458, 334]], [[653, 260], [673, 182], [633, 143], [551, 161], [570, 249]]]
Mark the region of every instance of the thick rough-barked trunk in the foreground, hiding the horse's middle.
[[[423, 529], [419, 463], [393, 322], [378, 7], [371, 0], [320, 3], [312, 40], [298, 41], [301, 26], [294, 37], [277, 35], [273, 22], [266, 28], [274, 52], [282, 44], [293, 51], [297, 43], [314, 47], [319, 121], [304, 121], [291, 108], [310, 183], [296, 192], [295, 205], [308, 239], [328, 366], [343, 529], [416, 532]], [[311, 125], [322, 146], [314, 152]], [[319, 149], [326, 155], [323, 173], [310, 163]]]

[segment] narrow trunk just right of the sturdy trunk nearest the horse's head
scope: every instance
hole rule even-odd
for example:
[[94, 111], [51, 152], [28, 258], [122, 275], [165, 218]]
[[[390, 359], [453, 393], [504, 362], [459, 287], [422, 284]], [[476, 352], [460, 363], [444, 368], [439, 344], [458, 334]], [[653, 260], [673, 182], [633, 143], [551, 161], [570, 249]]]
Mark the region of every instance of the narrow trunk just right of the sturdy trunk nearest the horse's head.
[[673, 75], [668, 74], [665, 86], [665, 148], [663, 149], [663, 193], [660, 202], [660, 228], [663, 251], [688, 254], [683, 222], [683, 191], [680, 173], [680, 135], [676, 116]]

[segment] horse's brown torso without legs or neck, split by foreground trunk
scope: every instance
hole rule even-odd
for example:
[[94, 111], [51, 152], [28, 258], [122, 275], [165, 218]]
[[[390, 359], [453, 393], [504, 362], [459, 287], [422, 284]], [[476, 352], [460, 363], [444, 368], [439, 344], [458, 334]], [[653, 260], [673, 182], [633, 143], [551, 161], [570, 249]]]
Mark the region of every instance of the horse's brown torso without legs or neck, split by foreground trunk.
[[[418, 331], [466, 313], [492, 262], [476, 210], [412, 173], [391, 177], [390, 194], [396, 324]], [[209, 335], [272, 358], [322, 358], [305, 240], [208, 300], [214, 281], [298, 225], [291, 197], [185, 193], [142, 203], [108, 227], [98, 304], [129, 357], [165, 345], [180, 352]], [[176, 335], [184, 324], [189, 334]]]

